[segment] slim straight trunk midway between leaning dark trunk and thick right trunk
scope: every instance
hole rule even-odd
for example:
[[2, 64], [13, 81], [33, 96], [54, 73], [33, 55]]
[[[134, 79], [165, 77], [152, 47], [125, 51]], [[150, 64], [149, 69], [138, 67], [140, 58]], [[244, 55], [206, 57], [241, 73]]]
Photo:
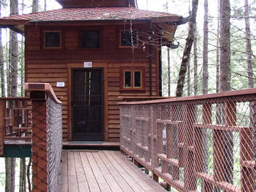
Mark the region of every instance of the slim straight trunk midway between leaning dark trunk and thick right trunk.
[[204, 0], [203, 94], [208, 93], [208, 0]]

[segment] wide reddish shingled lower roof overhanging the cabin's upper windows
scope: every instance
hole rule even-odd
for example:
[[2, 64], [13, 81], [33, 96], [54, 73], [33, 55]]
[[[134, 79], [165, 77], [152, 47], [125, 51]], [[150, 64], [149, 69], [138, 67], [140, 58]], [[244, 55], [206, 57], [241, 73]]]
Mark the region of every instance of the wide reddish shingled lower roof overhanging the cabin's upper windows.
[[[24, 26], [31, 22], [81, 22], [81, 21], [124, 21], [150, 20], [162, 29], [169, 31], [167, 42], [172, 42], [177, 25], [183, 24], [183, 17], [164, 12], [140, 10], [135, 7], [97, 7], [97, 8], [62, 8], [47, 12], [12, 15], [0, 18], [0, 28], [10, 28], [18, 33], [24, 33]], [[164, 37], [163, 37], [164, 38]]]

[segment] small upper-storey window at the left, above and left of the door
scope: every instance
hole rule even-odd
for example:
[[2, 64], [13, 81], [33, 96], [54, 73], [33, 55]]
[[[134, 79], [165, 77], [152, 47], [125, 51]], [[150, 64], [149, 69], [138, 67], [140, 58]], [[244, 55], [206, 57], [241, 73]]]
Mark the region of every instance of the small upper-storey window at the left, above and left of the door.
[[44, 48], [61, 48], [61, 31], [44, 31]]

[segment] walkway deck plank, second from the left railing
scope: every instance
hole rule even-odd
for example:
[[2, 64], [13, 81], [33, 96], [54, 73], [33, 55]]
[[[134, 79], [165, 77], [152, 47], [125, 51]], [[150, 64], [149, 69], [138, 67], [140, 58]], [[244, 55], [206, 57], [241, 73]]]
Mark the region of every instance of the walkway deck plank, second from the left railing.
[[76, 177], [74, 153], [72, 151], [68, 151], [68, 191], [79, 191]]

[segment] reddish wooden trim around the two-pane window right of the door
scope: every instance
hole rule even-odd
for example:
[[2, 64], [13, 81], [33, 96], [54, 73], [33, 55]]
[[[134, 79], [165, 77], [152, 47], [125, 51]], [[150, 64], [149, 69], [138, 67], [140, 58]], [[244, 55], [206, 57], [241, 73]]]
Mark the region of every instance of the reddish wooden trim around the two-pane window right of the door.
[[[131, 86], [125, 87], [125, 72], [131, 72]], [[140, 72], [140, 87], [134, 86], [134, 72]], [[145, 67], [120, 67], [120, 90], [121, 91], [144, 91], [145, 90]]]

